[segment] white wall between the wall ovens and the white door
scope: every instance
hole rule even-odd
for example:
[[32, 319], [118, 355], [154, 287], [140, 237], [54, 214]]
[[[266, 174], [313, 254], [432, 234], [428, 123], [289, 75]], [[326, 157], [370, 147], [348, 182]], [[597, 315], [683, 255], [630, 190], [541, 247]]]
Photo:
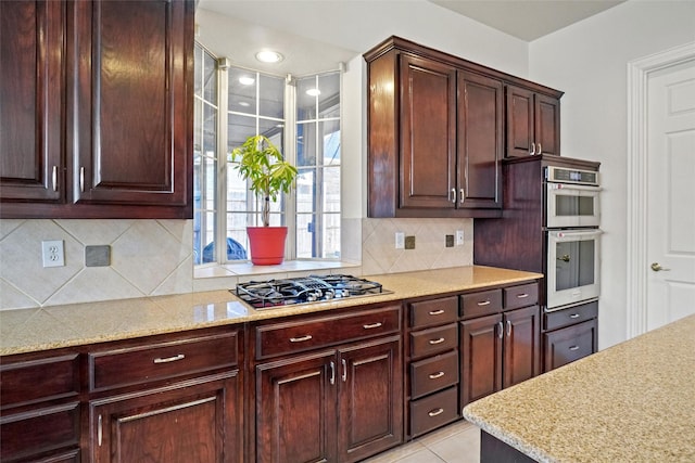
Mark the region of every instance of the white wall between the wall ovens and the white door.
[[565, 91], [561, 154], [602, 163], [598, 347], [627, 338], [627, 65], [695, 41], [695, 2], [631, 0], [530, 43], [529, 78]]

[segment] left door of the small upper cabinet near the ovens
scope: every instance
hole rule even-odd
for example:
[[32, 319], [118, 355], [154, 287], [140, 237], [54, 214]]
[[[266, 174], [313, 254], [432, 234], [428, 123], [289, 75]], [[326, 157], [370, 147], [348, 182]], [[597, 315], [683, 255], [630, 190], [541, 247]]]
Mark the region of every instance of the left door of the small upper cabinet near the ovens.
[[533, 92], [507, 86], [507, 157], [528, 156], [534, 140]]

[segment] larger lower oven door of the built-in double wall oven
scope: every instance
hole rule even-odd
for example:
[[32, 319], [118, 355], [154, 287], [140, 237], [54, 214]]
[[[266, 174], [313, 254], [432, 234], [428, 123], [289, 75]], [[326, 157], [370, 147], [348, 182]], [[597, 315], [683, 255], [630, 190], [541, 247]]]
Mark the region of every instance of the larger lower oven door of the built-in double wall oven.
[[601, 294], [598, 229], [547, 231], [547, 309]]

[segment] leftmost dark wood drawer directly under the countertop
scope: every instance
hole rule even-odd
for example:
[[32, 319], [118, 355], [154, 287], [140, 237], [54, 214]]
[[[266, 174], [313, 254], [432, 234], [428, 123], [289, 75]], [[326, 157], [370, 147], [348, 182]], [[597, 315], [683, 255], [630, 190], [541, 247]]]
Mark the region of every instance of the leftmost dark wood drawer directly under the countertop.
[[0, 365], [2, 409], [70, 397], [79, 391], [78, 355], [48, 357]]

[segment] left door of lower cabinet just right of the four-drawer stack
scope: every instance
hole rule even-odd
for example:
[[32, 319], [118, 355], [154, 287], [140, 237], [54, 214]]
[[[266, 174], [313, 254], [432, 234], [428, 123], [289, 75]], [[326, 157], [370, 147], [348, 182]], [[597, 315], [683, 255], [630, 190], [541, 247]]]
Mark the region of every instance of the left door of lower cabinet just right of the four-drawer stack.
[[502, 314], [460, 322], [460, 407], [502, 388]]

